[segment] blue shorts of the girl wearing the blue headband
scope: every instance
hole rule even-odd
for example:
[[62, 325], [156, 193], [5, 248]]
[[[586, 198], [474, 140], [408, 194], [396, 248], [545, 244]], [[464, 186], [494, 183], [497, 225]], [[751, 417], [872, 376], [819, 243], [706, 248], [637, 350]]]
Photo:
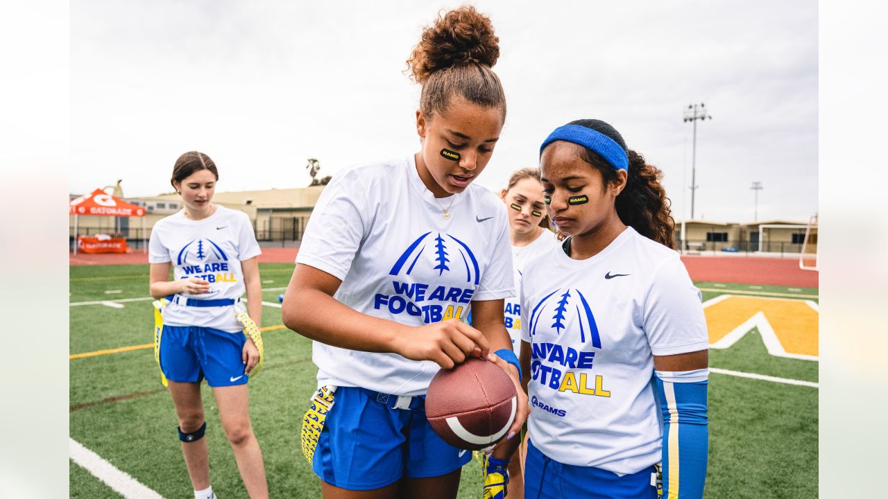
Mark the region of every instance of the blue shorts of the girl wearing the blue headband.
[[600, 468], [559, 463], [535, 448], [533, 440], [527, 440], [526, 499], [657, 499], [656, 482], [651, 485], [652, 476], [656, 478], [654, 466], [621, 477]]

